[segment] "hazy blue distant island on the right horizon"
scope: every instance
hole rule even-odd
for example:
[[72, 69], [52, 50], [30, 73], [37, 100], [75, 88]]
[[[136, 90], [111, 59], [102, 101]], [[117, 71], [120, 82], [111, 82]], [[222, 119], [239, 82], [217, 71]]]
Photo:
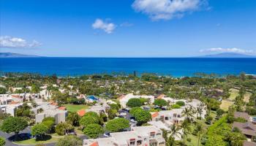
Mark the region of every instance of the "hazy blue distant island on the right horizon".
[[212, 55], [200, 55], [196, 58], [256, 58], [256, 55], [246, 55], [241, 53], [219, 53]]

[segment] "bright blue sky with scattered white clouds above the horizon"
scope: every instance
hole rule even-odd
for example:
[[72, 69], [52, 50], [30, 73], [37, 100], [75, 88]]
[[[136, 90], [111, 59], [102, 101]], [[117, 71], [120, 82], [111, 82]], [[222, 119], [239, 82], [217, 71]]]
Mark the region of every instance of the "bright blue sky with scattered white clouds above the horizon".
[[256, 54], [255, 0], [0, 0], [0, 52], [56, 57]]

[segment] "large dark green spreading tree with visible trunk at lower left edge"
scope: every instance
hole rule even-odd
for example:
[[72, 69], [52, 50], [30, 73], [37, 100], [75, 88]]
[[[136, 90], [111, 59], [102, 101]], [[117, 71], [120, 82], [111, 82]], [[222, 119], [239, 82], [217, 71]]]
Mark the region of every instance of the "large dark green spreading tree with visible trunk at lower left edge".
[[1, 124], [1, 131], [7, 132], [8, 134], [14, 132], [15, 139], [18, 138], [18, 133], [24, 130], [28, 126], [28, 122], [20, 117], [8, 117]]

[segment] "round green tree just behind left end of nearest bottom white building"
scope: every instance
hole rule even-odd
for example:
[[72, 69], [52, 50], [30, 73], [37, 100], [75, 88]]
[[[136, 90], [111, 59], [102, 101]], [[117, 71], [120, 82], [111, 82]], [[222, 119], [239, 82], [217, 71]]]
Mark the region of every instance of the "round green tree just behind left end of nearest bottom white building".
[[83, 133], [86, 134], [86, 136], [88, 136], [89, 138], [96, 139], [97, 137], [99, 137], [99, 134], [104, 133], [104, 130], [99, 124], [92, 123], [83, 129]]

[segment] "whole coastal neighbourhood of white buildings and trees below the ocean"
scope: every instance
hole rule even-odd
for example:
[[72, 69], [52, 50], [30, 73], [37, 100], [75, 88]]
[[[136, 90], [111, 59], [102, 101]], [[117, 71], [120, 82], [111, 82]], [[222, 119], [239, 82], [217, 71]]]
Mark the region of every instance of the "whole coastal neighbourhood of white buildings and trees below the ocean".
[[0, 80], [1, 132], [11, 133], [15, 120], [19, 131], [29, 126], [31, 136], [18, 142], [57, 135], [56, 143], [84, 146], [255, 145], [255, 86], [243, 83], [255, 79], [248, 76], [29, 77]]

